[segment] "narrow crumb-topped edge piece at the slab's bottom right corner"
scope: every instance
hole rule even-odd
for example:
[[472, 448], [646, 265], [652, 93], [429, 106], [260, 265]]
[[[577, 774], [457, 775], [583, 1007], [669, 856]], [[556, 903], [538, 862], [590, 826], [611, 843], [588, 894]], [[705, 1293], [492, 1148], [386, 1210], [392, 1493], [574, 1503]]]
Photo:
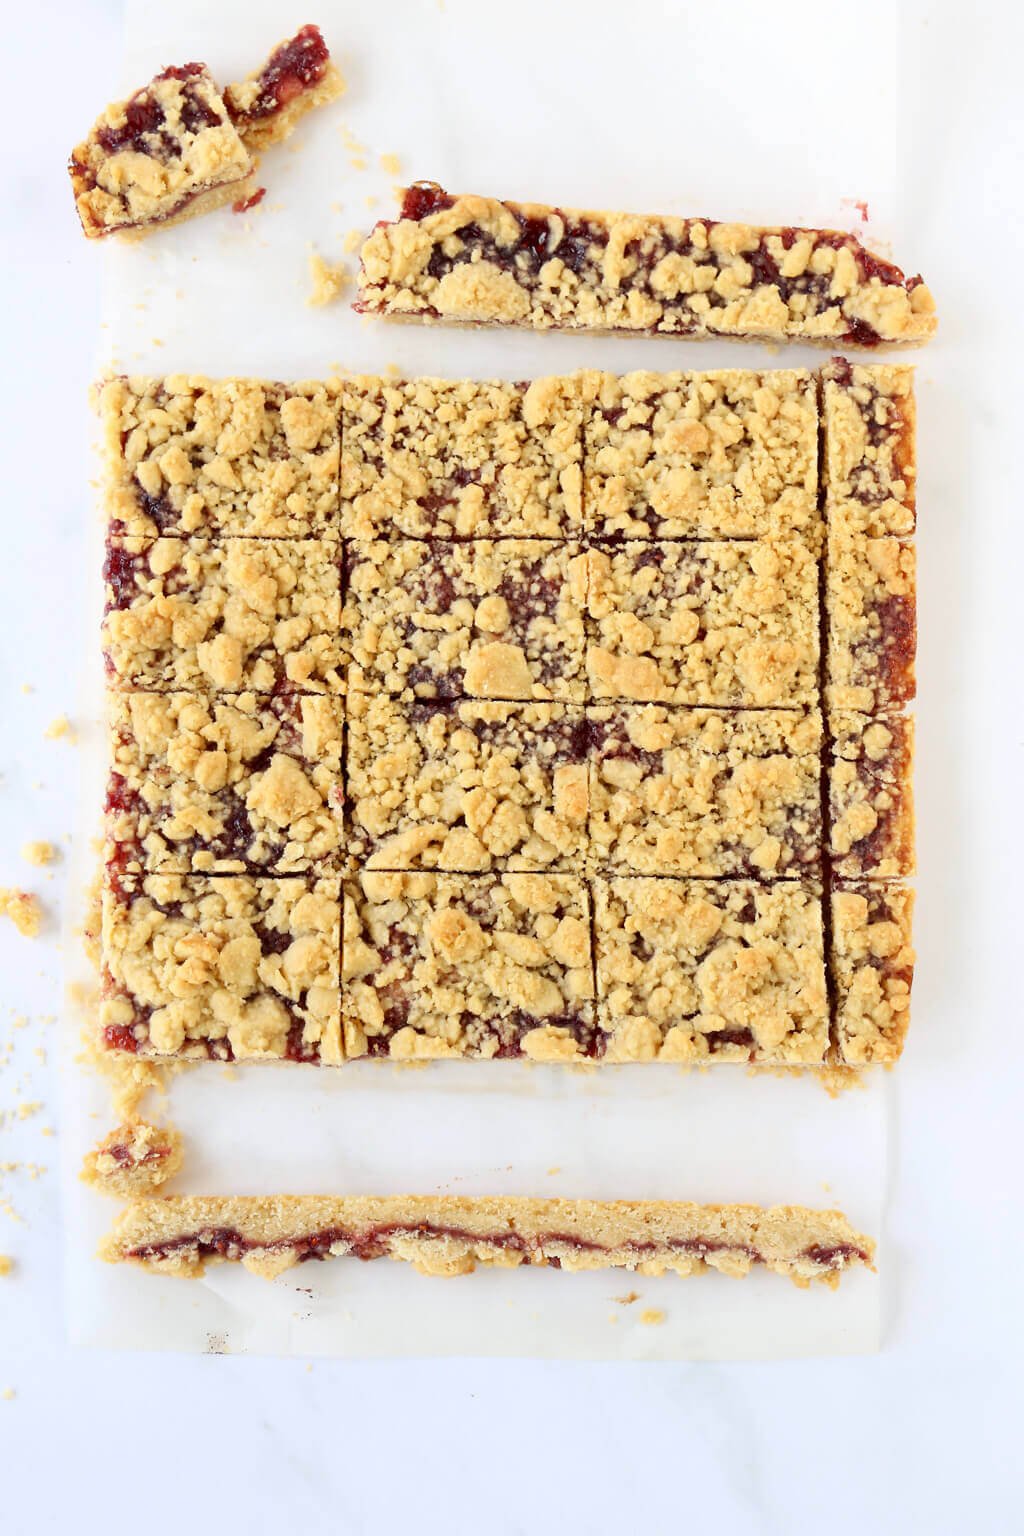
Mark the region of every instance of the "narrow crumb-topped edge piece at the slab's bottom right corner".
[[913, 891], [840, 883], [832, 889], [835, 1041], [851, 1066], [897, 1061], [910, 1023]]

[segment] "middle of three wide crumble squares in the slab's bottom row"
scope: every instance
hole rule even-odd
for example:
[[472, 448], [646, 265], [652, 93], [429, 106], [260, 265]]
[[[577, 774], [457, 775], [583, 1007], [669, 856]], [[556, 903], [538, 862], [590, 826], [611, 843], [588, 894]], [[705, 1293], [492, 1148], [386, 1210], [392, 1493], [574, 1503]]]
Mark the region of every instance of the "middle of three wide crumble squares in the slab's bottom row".
[[563, 874], [345, 882], [347, 1057], [600, 1055], [590, 894]]

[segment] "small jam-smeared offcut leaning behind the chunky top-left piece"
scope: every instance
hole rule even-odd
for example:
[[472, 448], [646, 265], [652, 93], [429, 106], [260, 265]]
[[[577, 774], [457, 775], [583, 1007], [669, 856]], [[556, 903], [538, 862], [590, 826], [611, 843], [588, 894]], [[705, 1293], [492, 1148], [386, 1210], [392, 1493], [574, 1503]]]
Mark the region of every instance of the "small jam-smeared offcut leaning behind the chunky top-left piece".
[[302, 26], [272, 51], [259, 69], [229, 86], [224, 101], [252, 151], [278, 144], [301, 117], [345, 89], [318, 26]]

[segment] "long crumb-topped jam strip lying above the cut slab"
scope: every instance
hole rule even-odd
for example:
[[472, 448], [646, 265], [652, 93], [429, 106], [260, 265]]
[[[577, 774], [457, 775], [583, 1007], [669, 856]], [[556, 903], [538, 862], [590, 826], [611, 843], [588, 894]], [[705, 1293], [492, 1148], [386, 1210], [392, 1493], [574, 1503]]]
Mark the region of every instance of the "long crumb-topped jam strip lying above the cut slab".
[[582, 212], [407, 187], [398, 221], [362, 247], [365, 313], [454, 324], [745, 336], [926, 341], [920, 276], [835, 229]]

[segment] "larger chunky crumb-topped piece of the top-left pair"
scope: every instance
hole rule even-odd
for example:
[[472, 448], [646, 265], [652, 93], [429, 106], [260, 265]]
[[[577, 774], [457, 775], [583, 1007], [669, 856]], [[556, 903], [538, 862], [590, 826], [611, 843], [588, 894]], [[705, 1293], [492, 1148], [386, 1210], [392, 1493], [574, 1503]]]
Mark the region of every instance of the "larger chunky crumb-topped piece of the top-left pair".
[[164, 69], [114, 101], [68, 166], [84, 233], [146, 235], [244, 201], [253, 160], [206, 65]]

